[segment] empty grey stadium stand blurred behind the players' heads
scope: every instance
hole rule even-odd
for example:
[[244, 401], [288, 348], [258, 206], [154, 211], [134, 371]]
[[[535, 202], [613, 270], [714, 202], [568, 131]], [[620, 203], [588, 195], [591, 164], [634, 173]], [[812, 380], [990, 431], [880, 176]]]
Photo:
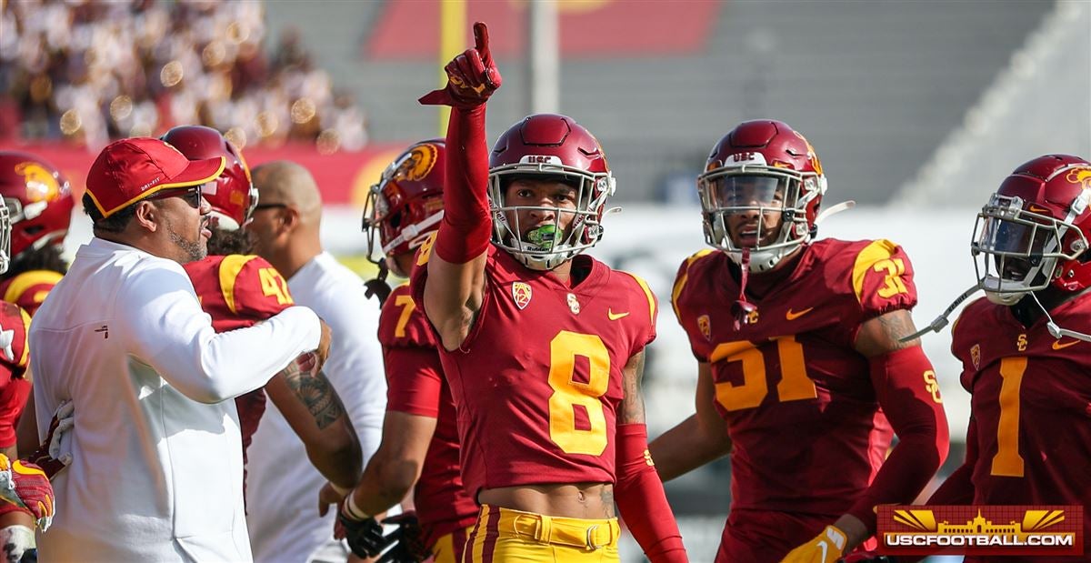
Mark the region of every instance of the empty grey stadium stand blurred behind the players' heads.
[[[620, 3], [625, 2], [594, 4], [606, 11]], [[400, 4], [416, 5], [420, 17], [395, 17]], [[469, 0], [469, 20], [494, 14], [495, 4], [521, 5]], [[708, 5], [674, 2], [670, 8]], [[599, 136], [619, 177], [619, 201], [659, 199], [669, 178], [694, 175], [735, 122], [776, 117], [817, 147], [835, 199], [886, 202], [962, 121], [1053, 8], [1035, 1], [711, 5], [712, 25], [696, 52], [590, 52], [563, 59], [561, 110]], [[337, 3], [329, 13], [311, 13], [305, 4], [277, 2], [267, 8], [267, 20], [274, 34], [298, 25], [339, 83], [367, 93], [358, 99], [371, 116], [373, 139], [400, 141], [435, 134], [434, 111], [416, 104], [439, 80], [434, 55], [429, 58], [434, 51], [419, 47], [435, 45], [433, 35], [421, 33], [436, 29], [431, 19], [437, 10], [427, 7]], [[566, 17], [594, 15], [594, 9], [567, 13], [562, 7], [562, 37]], [[618, 35], [613, 20], [603, 17], [599, 25], [604, 36]], [[499, 43], [517, 45], [523, 28], [494, 25], [491, 34]], [[374, 45], [374, 56], [368, 52], [379, 33], [401, 37], [405, 53], [388, 40]], [[694, 31], [679, 27], [676, 33]], [[343, 39], [331, 39], [336, 37]], [[497, 59], [505, 86], [490, 105], [491, 136], [527, 113], [525, 61], [503, 51]]]

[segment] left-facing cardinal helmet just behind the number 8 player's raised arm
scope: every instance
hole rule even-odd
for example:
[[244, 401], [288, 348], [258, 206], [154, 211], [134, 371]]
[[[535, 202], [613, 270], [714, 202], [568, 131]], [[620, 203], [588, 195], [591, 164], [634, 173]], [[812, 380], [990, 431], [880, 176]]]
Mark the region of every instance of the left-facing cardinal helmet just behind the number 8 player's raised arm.
[[376, 238], [383, 255], [389, 257], [412, 251], [440, 228], [445, 146], [442, 139], [415, 143], [368, 191], [363, 231], [369, 257]]

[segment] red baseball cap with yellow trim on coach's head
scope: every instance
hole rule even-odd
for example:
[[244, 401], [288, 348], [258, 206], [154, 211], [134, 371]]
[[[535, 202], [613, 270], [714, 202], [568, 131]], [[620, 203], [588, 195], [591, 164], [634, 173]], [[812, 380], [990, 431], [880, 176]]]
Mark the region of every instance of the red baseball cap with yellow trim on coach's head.
[[224, 166], [223, 156], [190, 160], [158, 139], [122, 139], [106, 145], [91, 165], [87, 194], [105, 219], [164, 190], [211, 182]]

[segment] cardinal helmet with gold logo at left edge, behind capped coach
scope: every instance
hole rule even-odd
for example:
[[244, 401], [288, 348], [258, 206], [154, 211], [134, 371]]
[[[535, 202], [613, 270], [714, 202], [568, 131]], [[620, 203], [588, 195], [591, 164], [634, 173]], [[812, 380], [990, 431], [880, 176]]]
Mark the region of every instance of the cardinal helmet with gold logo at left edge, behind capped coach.
[[57, 167], [27, 153], [0, 151], [0, 195], [7, 207], [0, 233], [10, 243], [7, 257], [64, 242], [75, 202]]

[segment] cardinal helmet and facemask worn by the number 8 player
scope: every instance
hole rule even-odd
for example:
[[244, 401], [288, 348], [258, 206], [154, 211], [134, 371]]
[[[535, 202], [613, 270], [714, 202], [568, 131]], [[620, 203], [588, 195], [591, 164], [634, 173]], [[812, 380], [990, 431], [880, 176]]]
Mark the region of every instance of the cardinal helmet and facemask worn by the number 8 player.
[[[558, 180], [576, 189], [576, 208], [507, 205], [507, 185], [518, 178]], [[500, 135], [489, 158], [492, 241], [531, 269], [552, 269], [602, 238], [602, 214], [616, 182], [595, 135], [570, 117], [537, 113]], [[519, 209], [572, 213], [567, 232], [551, 241], [521, 240]], [[512, 225], [509, 221], [516, 224]]]

